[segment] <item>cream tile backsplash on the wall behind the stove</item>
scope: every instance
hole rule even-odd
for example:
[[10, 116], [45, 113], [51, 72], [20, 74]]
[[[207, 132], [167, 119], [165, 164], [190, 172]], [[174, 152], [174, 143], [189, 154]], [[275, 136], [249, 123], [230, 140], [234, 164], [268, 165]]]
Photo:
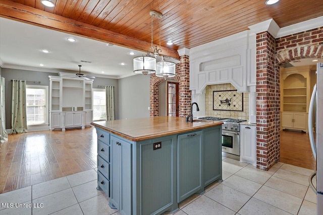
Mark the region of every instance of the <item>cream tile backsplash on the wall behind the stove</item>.
[[[221, 85], [208, 85], [205, 89], [205, 116], [212, 116], [212, 117], [223, 117], [223, 118], [235, 118], [235, 119], [246, 119], [249, 118], [249, 93], [243, 93], [242, 96], [237, 96], [235, 98], [236, 104], [243, 104], [243, 111], [235, 111], [237, 110], [236, 107], [226, 107], [227, 110], [213, 110], [213, 91], [228, 91], [224, 92], [223, 95], [231, 95], [229, 92], [236, 92], [230, 90], [237, 90], [231, 84], [221, 84]], [[226, 98], [224, 98], [225, 100]], [[228, 98], [230, 99], [230, 98]], [[223, 104], [225, 105], [225, 104]], [[235, 108], [235, 110], [233, 109]], [[215, 108], [214, 108], [215, 109]], [[220, 109], [220, 108], [219, 108]], [[228, 111], [230, 109], [231, 111]], [[241, 110], [241, 109], [240, 109]]]

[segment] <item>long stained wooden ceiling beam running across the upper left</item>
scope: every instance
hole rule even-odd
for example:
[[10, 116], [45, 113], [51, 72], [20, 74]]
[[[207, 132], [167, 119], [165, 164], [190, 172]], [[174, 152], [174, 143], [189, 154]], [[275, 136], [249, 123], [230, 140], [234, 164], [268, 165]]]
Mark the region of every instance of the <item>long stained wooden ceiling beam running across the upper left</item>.
[[[150, 42], [128, 37], [126, 35], [98, 28], [93, 25], [48, 13], [22, 4], [0, 0], [0, 17], [12, 19], [56, 31], [82, 36], [102, 42], [116, 44], [126, 48], [147, 52]], [[161, 47], [163, 55], [180, 59], [177, 50]]]

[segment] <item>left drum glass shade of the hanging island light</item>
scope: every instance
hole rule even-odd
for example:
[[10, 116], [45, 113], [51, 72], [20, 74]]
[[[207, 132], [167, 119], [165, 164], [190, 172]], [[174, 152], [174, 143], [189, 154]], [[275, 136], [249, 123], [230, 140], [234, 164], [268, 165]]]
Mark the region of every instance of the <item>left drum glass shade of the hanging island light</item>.
[[156, 72], [156, 58], [146, 55], [133, 58], [133, 71], [143, 75]]

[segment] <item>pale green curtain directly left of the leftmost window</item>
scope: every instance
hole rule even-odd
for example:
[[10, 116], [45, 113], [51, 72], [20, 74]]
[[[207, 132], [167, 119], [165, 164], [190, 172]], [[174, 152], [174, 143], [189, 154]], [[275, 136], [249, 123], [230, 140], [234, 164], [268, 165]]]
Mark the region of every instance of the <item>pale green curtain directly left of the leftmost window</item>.
[[12, 81], [11, 133], [27, 131], [26, 81]]

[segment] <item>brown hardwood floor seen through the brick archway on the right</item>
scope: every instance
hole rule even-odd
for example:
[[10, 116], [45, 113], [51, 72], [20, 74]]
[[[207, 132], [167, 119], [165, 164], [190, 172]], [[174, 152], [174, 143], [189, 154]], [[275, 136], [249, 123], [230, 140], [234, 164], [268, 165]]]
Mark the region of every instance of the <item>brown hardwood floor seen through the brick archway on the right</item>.
[[280, 156], [283, 163], [315, 169], [308, 133], [281, 130]]

